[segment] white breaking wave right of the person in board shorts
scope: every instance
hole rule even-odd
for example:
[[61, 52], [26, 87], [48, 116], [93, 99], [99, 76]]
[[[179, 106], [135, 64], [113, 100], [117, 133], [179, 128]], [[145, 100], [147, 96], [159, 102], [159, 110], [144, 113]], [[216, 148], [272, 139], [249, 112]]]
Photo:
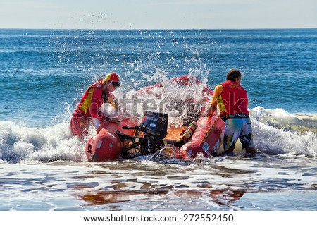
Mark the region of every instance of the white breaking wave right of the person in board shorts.
[[[316, 133], [306, 128], [306, 121], [284, 109], [250, 110], [256, 147], [267, 154], [317, 154]], [[296, 129], [295, 129], [296, 128]], [[303, 130], [304, 132], [299, 133]], [[314, 129], [313, 125], [310, 128]]]

